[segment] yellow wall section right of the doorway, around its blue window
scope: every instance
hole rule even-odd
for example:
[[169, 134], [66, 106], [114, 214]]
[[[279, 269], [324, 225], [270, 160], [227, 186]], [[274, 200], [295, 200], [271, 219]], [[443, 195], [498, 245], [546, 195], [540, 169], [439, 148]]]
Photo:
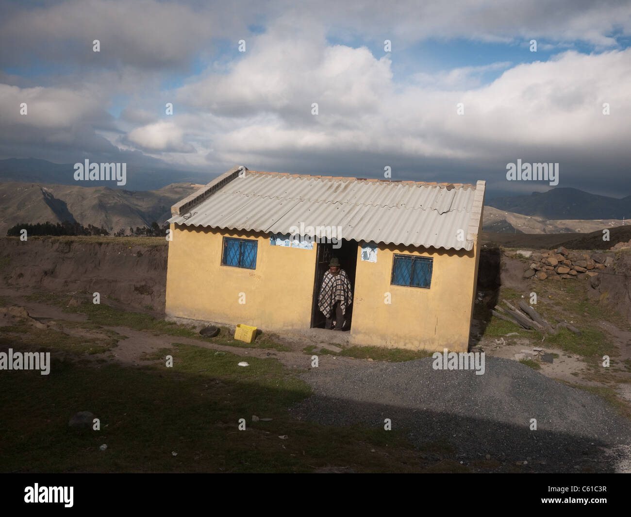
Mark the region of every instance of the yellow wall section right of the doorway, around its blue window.
[[[432, 257], [430, 288], [391, 285], [395, 253]], [[475, 271], [473, 250], [445, 251], [380, 244], [376, 263], [358, 258], [351, 343], [466, 351]], [[385, 302], [386, 293], [390, 293], [390, 304]]]

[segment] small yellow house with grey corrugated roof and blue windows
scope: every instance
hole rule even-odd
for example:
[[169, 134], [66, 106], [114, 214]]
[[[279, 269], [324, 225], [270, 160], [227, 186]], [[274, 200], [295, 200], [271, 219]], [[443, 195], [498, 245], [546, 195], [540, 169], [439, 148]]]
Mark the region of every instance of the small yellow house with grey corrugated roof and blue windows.
[[466, 351], [484, 194], [484, 181], [235, 167], [172, 207], [167, 319], [324, 328], [317, 298], [338, 258], [353, 287], [349, 343]]

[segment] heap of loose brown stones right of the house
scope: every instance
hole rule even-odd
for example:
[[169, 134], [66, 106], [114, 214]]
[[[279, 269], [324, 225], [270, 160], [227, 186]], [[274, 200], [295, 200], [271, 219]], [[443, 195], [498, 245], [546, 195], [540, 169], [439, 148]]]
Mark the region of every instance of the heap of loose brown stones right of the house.
[[586, 280], [613, 264], [613, 258], [603, 253], [574, 253], [559, 247], [557, 251], [542, 251], [529, 256], [531, 264], [524, 278], [577, 278]]

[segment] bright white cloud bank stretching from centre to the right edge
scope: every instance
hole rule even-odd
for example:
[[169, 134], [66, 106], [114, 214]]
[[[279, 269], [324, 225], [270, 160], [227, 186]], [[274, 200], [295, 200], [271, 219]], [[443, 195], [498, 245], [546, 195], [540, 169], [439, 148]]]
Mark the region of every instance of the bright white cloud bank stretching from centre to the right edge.
[[[215, 121], [207, 126], [213, 138], [207, 156], [216, 163], [310, 170], [314, 157], [326, 155], [316, 160], [327, 163], [346, 154], [357, 158], [356, 170], [345, 174], [363, 176], [371, 160], [377, 175], [390, 163], [383, 160], [396, 157], [399, 179], [419, 179], [432, 163], [435, 171], [468, 169], [469, 181], [485, 177], [496, 187], [506, 187], [505, 163], [517, 158], [562, 163], [566, 186], [581, 177], [614, 179], [626, 167], [631, 49], [567, 51], [513, 68], [507, 62], [459, 68], [433, 81], [421, 73], [401, 84], [389, 59], [363, 47], [326, 45], [315, 32], [296, 42], [295, 52], [281, 52], [291, 39], [271, 30], [230, 73], [180, 88], [181, 102], [224, 121], [221, 131], [213, 131]], [[480, 74], [502, 69], [480, 85]], [[317, 116], [312, 100], [320, 101]], [[603, 115], [605, 102], [610, 116]], [[383, 165], [374, 165], [375, 155]], [[590, 177], [595, 167], [599, 175]]]

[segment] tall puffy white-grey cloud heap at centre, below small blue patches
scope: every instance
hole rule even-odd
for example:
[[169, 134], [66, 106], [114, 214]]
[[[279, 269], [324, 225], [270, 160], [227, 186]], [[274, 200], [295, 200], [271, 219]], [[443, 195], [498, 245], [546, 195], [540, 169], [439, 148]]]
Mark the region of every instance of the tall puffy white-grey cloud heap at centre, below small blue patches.
[[372, 111], [390, 86], [387, 56], [365, 48], [326, 45], [324, 32], [305, 37], [284, 20], [253, 40], [228, 74], [209, 74], [180, 88], [178, 100], [222, 116], [274, 112], [305, 120], [317, 102], [323, 113]]

